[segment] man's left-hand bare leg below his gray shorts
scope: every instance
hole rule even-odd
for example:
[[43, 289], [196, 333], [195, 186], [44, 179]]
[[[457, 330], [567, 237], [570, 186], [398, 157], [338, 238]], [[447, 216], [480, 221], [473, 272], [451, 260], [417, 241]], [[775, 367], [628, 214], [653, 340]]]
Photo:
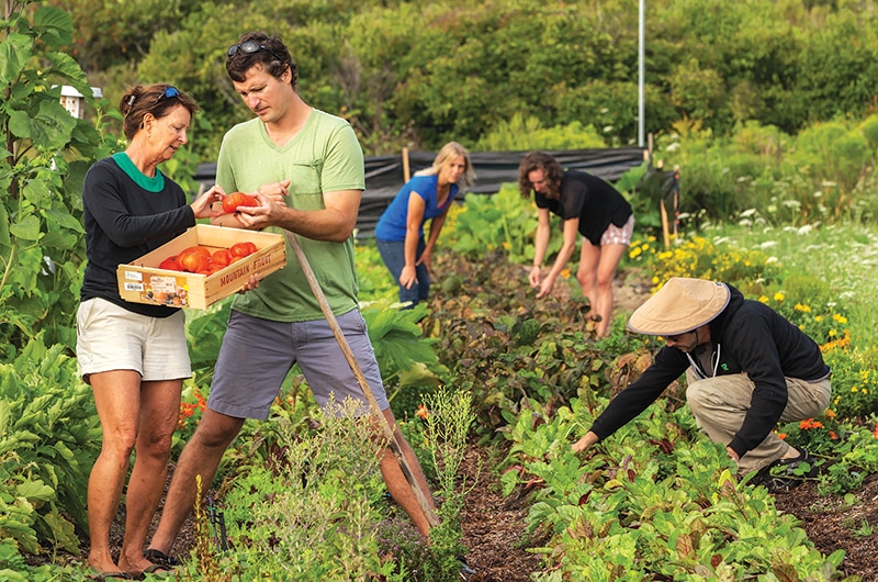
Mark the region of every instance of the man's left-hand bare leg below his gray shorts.
[[235, 440], [241, 426], [244, 418], [226, 416], [210, 408], [204, 411], [195, 434], [180, 454], [150, 548], [170, 553], [177, 534], [195, 505], [195, 475], [201, 475], [202, 492], [206, 492], [223, 452]]

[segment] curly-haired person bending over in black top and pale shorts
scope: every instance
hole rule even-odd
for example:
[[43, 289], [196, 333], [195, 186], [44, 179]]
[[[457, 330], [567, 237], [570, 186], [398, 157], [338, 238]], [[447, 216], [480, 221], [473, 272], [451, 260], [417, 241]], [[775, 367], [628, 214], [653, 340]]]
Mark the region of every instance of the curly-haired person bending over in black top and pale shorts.
[[[573, 256], [576, 234], [583, 236], [576, 279], [590, 302], [588, 317], [597, 337], [609, 335], [612, 315], [612, 278], [624, 249], [631, 244], [634, 216], [631, 205], [614, 187], [585, 171], [566, 170], [543, 152], [531, 152], [518, 166], [518, 189], [539, 210], [533, 267], [528, 280], [537, 298], [552, 291], [555, 279]], [[564, 242], [549, 273], [541, 279], [550, 238], [550, 212], [564, 222]]]

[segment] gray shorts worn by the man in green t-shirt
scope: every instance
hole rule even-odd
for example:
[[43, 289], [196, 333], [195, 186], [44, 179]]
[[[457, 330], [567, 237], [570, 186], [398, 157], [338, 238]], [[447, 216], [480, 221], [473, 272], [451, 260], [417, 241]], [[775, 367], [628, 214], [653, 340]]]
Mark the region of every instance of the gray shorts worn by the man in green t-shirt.
[[[379, 407], [387, 408], [375, 352], [359, 310], [337, 317]], [[207, 407], [235, 418], [268, 418], [286, 373], [299, 362], [314, 398], [326, 406], [351, 398], [367, 404], [326, 320], [283, 323], [232, 311], [216, 360]], [[363, 414], [365, 414], [363, 408]]]

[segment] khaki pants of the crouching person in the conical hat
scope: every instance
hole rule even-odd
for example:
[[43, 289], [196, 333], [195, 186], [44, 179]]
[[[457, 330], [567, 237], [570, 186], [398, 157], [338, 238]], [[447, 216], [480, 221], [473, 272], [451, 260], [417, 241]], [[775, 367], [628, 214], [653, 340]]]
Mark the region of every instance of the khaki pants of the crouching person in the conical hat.
[[[698, 380], [691, 370], [687, 373], [689, 387], [686, 401], [695, 415], [698, 426], [711, 440], [728, 445], [750, 410], [755, 384], [746, 373], [717, 376]], [[781, 423], [803, 421], [820, 415], [829, 405], [832, 395], [829, 379], [806, 382], [787, 378], [787, 407], [780, 415]], [[744, 475], [757, 471], [781, 458], [789, 445], [769, 433], [758, 447], [748, 451], [739, 461], [739, 472]]]

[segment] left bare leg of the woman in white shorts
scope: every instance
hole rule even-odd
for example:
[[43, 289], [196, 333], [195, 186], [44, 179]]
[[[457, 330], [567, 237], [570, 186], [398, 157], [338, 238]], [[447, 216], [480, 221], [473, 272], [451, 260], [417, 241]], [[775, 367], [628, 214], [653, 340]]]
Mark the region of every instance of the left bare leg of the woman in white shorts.
[[101, 421], [101, 454], [89, 475], [89, 566], [117, 572], [110, 553], [110, 526], [119, 510], [139, 423], [140, 374], [112, 370], [89, 378]]

